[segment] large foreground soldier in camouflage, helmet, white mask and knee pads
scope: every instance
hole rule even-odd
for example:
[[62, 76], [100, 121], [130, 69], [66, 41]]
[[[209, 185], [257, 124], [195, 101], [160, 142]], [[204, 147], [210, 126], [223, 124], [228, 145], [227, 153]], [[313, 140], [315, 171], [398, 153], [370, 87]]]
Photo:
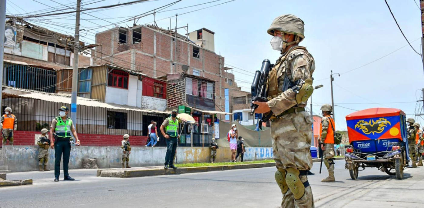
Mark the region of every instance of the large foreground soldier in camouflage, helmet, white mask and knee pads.
[[[304, 39], [304, 22], [292, 14], [273, 20], [268, 34], [271, 46], [282, 56], [271, 69], [268, 102], [257, 104], [257, 113], [272, 113], [271, 136], [277, 171], [275, 179], [283, 194], [283, 208], [314, 207], [307, 171], [312, 167], [310, 154], [312, 118], [305, 111], [313, 91], [312, 73], [315, 63], [306, 48], [298, 46]], [[289, 85], [290, 87], [283, 88]], [[299, 90], [291, 88], [299, 86]]]

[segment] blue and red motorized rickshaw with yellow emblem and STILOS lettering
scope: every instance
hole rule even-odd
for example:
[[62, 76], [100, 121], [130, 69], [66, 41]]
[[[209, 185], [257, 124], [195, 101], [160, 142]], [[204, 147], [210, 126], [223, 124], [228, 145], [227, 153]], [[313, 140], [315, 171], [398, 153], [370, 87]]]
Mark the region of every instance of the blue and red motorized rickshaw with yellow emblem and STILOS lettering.
[[349, 144], [345, 168], [358, 177], [359, 167], [375, 167], [403, 178], [409, 161], [405, 113], [395, 108], [370, 108], [346, 116]]

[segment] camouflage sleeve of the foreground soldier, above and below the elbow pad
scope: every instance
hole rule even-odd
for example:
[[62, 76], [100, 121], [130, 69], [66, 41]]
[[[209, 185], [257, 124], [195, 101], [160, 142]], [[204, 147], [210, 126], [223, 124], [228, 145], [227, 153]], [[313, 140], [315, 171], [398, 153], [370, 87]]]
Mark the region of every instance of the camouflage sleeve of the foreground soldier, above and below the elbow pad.
[[[303, 50], [295, 50], [292, 53], [293, 54], [288, 58], [288, 67], [290, 67], [293, 81], [310, 79], [312, 77], [312, 72], [315, 70], [312, 56]], [[288, 89], [282, 92], [280, 96], [268, 101], [268, 106], [271, 108], [274, 115], [279, 115], [296, 104], [296, 93], [293, 92], [292, 89]]]

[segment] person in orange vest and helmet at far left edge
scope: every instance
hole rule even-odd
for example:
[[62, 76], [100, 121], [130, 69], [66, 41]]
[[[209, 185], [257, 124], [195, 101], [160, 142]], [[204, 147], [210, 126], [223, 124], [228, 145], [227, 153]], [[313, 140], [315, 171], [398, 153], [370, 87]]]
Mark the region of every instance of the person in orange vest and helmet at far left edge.
[[1, 116], [0, 130], [3, 136], [3, 145], [6, 145], [9, 140], [9, 145], [13, 145], [13, 131], [18, 127], [18, 120], [16, 116], [12, 114], [12, 109], [6, 107], [4, 110], [5, 114]]

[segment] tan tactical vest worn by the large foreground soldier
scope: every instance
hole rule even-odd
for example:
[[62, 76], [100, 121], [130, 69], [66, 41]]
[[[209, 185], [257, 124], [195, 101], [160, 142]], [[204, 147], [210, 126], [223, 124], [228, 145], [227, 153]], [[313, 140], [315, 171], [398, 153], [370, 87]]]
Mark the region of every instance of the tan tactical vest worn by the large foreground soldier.
[[[295, 46], [293, 48], [290, 48], [289, 51], [287, 51], [287, 53], [285, 53], [283, 56], [281, 56], [277, 63], [274, 65], [274, 67], [272, 67], [271, 71], [268, 74], [268, 80], [267, 80], [267, 96], [268, 96], [268, 100], [271, 100], [272, 98], [275, 98], [277, 96], [279, 96], [280, 93], [282, 93], [282, 89], [279, 89], [278, 87], [278, 75], [277, 75], [277, 70], [280, 67], [281, 64], [283, 64], [285, 62], [285, 60], [287, 59], [287, 57], [289, 56], [290, 52], [292, 52], [293, 50], [296, 49], [302, 49], [302, 50], [306, 50], [305, 47], [302, 46]], [[288, 69], [289, 67], [286, 67], [286, 69]], [[287, 73], [287, 72], [285, 72]]]

